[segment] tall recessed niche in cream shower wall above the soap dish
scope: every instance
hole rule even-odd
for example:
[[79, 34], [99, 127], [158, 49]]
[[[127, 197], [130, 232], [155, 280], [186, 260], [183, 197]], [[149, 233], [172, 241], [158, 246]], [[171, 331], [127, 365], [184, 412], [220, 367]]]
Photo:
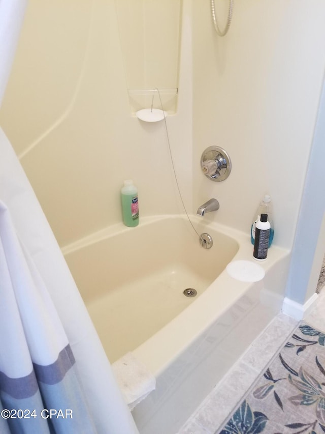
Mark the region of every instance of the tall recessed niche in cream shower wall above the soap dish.
[[182, 0], [115, 0], [115, 8], [132, 114], [161, 105], [176, 113]]

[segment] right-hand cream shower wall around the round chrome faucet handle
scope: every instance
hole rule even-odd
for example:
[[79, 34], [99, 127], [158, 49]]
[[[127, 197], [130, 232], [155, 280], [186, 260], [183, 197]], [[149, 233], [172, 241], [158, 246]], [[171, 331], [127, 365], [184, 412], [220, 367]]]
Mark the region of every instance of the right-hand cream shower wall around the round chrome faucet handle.
[[[289, 249], [325, 70], [325, 4], [313, 5], [236, 2], [224, 38], [212, 24], [202, 25], [211, 20], [209, 8], [192, 6], [194, 203], [215, 195], [218, 222], [249, 230], [258, 202], [270, 194], [274, 242]], [[231, 176], [217, 186], [197, 165], [212, 144], [233, 163]]]

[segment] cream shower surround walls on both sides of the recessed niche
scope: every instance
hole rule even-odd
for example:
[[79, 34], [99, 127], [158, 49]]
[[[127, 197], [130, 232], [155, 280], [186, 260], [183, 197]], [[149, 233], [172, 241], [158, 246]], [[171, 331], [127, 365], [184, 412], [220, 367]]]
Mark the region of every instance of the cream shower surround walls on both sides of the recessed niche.
[[[74, 1], [28, 3], [0, 113], [61, 246], [120, 221], [123, 179], [135, 179], [142, 217], [183, 212], [164, 125], [130, 115], [115, 0], [87, 0], [84, 9]], [[218, 217], [209, 219], [248, 232], [259, 200], [271, 194], [274, 242], [290, 249], [324, 72], [325, 4], [238, 2], [224, 38], [208, 2], [182, 7], [178, 109], [167, 125], [187, 210], [216, 197]], [[233, 163], [219, 184], [199, 164], [212, 144]]]

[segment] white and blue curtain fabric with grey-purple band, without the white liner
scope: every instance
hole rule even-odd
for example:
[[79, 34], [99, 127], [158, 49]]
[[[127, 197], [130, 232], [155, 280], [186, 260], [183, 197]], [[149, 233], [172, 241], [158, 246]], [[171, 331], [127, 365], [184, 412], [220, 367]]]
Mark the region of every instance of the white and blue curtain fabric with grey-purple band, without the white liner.
[[51, 298], [0, 201], [0, 432], [95, 432]]

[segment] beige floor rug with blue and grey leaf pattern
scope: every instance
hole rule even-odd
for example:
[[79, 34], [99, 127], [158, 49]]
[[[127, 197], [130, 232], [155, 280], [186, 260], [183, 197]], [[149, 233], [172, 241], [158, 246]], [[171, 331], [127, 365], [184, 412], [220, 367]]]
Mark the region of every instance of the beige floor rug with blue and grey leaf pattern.
[[324, 434], [325, 333], [302, 323], [220, 434]]

